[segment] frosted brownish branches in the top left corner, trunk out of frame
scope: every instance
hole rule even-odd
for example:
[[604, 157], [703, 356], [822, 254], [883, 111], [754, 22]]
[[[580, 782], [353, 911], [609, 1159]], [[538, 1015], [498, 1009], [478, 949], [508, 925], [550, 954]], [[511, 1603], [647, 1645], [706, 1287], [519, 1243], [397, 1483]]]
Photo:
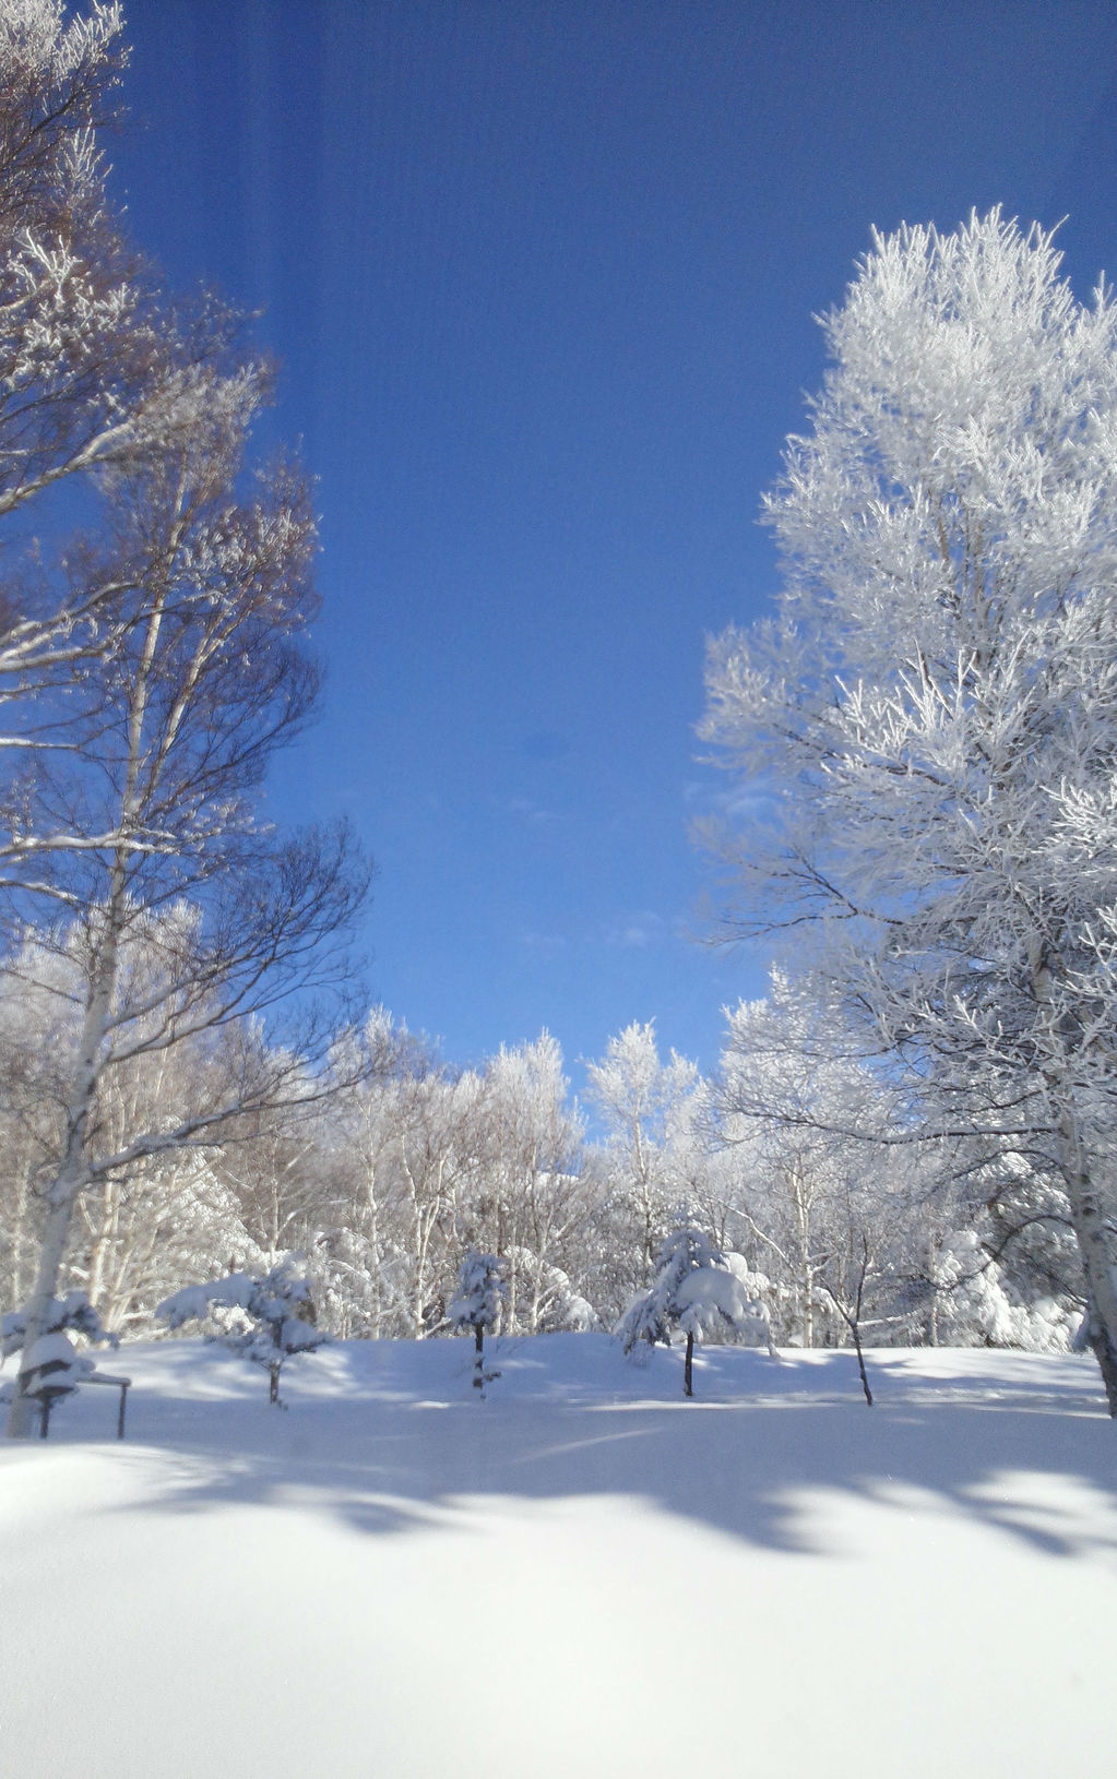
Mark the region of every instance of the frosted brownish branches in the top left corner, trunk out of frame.
[[[68, 537], [60, 496], [185, 441], [213, 384], [217, 304], [171, 324], [105, 196], [100, 133], [126, 66], [116, 4], [0, 0], [0, 758], [43, 758], [101, 690], [126, 564]], [[73, 503], [71, 503], [73, 505]], [[121, 584], [125, 571], [125, 584]], [[44, 708], [46, 688], [66, 696]], [[0, 797], [0, 859], [32, 841], [20, 774]], [[39, 809], [39, 813], [46, 813]]]

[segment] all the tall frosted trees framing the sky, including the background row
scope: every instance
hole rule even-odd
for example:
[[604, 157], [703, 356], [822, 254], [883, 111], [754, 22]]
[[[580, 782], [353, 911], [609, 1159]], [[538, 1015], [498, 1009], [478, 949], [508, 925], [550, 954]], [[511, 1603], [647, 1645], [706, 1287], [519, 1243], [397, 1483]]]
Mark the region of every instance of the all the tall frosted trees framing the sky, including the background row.
[[121, 28], [0, 4], [0, 1306], [146, 1334], [299, 1254], [322, 1329], [423, 1338], [478, 1252], [502, 1332], [612, 1329], [687, 1224], [781, 1343], [1085, 1313], [1117, 1411], [1110, 297], [1000, 215], [877, 240], [768, 503], [779, 616], [710, 672], [772, 813], [717, 840], [729, 927], [797, 971], [710, 1076], [633, 1023], [578, 1105], [546, 1034], [459, 1067], [352, 1005], [366, 866], [258, 818], [315, 521], [240, 318], [105, 197]]

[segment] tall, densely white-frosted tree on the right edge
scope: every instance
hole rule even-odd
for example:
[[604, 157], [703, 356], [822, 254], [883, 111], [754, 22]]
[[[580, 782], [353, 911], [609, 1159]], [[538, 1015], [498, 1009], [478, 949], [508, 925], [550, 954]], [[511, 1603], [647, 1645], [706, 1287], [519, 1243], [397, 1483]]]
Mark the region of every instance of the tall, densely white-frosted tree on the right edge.
[[1117, 306], [1058, 258], [1000, 212], [875, 237], [706, 735], [768, 817], [722, 836], [733, 930], [815, 927], [889, 1140], [1058, 1185], [1117, 1414]]

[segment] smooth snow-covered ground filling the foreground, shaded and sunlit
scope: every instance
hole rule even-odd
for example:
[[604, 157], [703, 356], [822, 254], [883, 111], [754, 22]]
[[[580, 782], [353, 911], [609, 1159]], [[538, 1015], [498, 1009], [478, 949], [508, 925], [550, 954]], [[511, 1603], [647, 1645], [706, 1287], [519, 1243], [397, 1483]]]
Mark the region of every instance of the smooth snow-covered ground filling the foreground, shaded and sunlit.
[[0, 1448], [11, 1779], [1108, 1772], [1085, 1357], [174, 1341]]

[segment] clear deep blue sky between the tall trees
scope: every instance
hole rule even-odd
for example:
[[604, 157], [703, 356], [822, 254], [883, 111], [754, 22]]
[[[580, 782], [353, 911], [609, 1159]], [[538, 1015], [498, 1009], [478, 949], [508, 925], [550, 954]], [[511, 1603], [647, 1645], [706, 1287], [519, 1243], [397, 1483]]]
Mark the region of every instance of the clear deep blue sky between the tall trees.
[[272, 781], [379, 865], [368, 984], [475, 1060], [631, 1019], [704, 1066], [704, 635], [870, 226], [973, 206], [1117, 274], [1117, 9], [132, 0], [135, 238], [261, 310], [318, 479], [329, 683]]

